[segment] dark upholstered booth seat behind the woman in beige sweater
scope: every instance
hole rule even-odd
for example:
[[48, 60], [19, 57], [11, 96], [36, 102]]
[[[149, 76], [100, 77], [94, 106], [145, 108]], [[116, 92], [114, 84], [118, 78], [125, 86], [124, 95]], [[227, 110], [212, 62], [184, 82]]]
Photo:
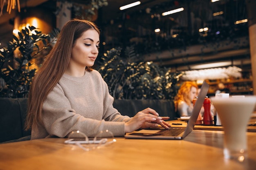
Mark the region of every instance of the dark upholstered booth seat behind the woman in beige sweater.
[[[122, 115], [130, 117], [147, 107], [155, 109], [160, 116], [170, 117], [170, 120], [177, 117], [172, 100], [116, 99], [113, 106]], [[26, 116], [27, 98], [0, 97], [0, 143], [29, 139], [31, 131], [24, 130]]]

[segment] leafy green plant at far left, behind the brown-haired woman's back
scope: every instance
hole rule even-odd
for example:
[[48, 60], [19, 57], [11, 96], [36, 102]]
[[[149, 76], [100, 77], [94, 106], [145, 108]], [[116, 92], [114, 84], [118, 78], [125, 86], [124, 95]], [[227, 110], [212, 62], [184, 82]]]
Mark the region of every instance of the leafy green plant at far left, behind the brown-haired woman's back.
[[[54, 29], [52, 33], [43, 34], [29, 26], [18, 33], [19, 38], [13, 35], [13, 42], [0, 49], [0, 97], [27, 97], [36, 73], [32, 60], [47, 55], [58, 33], [59, 30]], [[46, 53], [40, 55], [42, 52]]]

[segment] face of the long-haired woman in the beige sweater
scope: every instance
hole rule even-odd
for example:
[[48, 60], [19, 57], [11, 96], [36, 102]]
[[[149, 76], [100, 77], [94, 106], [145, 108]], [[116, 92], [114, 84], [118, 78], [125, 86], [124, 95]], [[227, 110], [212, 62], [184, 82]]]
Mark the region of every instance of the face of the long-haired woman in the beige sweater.
[[73, 68], [93, 66], [99, 53], [99, 33], [90, 29], [83, 32], [72, 48], [69, 65]]

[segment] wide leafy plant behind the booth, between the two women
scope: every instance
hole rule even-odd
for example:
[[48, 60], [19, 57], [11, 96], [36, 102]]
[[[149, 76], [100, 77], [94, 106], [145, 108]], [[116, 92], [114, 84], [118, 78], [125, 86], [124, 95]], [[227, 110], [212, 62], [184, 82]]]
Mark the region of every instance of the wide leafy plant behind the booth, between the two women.
[[[108, 84], [115, 99], [173, 99], [178, 91], [177, 82], [182, 73], [171, 73], [153, 62], [130, 62], [139, 56], [133, 49], [111, 49], [101, 58], [97, 70]], [[132, 60], [134, 61], [134, 60]]]

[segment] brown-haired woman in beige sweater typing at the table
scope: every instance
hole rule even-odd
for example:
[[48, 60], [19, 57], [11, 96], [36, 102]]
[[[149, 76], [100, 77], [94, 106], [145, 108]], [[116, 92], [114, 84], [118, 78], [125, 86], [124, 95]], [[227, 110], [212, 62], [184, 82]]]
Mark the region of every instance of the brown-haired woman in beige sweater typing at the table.
[[99, 53], [99, 29], [86, 20], [70, 20], [35, 75], [28, 99], [31, 139], [66, 137], [80, 130], [94, 137], [101, 130], [124, 136], [139, 128], [170, 127], [168, 117], [146, 108], [134, 117], [113, 108], [113, 97], [99, 72], [90, 68]]

